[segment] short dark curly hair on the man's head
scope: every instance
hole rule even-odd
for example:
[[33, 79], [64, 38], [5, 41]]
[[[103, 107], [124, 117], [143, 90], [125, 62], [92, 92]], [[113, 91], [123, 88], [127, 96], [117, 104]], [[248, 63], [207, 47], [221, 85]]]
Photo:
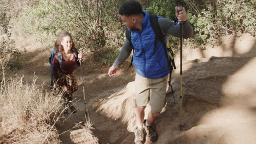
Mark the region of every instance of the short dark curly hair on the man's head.
[[142, 6], [136, 0], [128, 0], [124, 2], [119, 8], [119, 14], [125, 16], [142, 14]]

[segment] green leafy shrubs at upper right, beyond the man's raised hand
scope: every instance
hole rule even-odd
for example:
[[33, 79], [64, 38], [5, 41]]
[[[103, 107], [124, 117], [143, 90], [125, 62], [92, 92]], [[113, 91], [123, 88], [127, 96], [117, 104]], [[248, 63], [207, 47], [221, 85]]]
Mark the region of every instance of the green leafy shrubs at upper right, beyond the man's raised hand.
[[255, 35], [255, 0], [212, 2], [185, 0], [197, 45], [203, 47], [213, 39], [235, 32]]

